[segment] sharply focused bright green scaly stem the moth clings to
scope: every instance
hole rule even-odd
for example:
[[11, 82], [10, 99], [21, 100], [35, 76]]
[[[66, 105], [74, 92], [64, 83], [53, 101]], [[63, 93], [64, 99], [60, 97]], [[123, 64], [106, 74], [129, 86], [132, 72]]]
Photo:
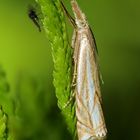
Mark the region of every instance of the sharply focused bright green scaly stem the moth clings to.
[[41, 7], [42, 23], [50, 40], [54, 62], [54, 86], [58, 106], [62, 110], [68, 128], [75, 130], [75, 108], [72, 102], [64, 108], [71, 97], [72, 50], [68, 43], [64, 14], [59, 0], [36, 0]]

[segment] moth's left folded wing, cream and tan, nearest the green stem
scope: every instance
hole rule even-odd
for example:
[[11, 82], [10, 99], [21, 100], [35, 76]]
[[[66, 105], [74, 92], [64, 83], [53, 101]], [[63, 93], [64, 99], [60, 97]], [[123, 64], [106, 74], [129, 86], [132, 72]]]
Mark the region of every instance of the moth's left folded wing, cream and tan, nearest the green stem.
[[[82, 35], [83, 36], [83, 35]], [[82, 37], [78, 50], [77, 62], [77, 85], [76, 85], [76, 116], [79, 140], [87, 140], [94, 136], [93, 124], [90, 114], [89, 94], [87, 75], [87, 38]], [[92, 96], [92, 97], [89, 97]], [[93, 99], [93, 98], [92, 98]]]

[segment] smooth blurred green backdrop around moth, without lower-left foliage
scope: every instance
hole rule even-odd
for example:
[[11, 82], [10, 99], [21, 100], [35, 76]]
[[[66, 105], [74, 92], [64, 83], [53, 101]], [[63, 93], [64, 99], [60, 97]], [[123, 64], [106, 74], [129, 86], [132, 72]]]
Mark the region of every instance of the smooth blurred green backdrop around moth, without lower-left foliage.
[[[93, 29], [99, 50], [104, 80], [102, 96], [108, 140], [138, 140], [140, 139], [140, 1], [78, 0], [78, 2]], [[43, 81], [45, 85], [43, 88], [47, 93], [44, 139], [68, 140], [71, 137], [57, 108], [52, 84], [51, 48], [44, 31], [38, 32], [28, 18], [28, 6], [32, 3], [33, 0], [0, 0], [0, 64], [7, 74], [12, 98], [17, 91], [21, 73]], [[64, 3], [70, 10], [69, 1]], [[71, 31], [70, 24], [67, 26]], [[39, 104], [41, 107], [42, 104]]]

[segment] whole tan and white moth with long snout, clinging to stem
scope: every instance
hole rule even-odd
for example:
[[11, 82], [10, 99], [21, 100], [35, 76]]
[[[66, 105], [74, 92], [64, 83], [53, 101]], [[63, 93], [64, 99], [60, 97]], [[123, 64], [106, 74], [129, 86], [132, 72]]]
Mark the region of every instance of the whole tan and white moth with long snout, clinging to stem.
[[76, 0], [71, 0], [73, 19], [63, 8], [74, 25], [74, 76], [77, 133], [79, 140], [103, 140], [107, 128], [102, 111], [100, 72], [95, 38], [85, 14]]

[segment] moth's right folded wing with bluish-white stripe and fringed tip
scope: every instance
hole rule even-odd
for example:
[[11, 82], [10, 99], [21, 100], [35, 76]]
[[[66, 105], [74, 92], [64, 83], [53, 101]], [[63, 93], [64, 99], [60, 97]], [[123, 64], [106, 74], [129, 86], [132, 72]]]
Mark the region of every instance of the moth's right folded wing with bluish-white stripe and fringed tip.
[[89, 43], [87, 49], [87, 89], [89, 94], [89, 114], [93, 124], [96, 137], [104, 138], [107, 130], [105, 126], [103, 111], [101, 107], [101, 92], [98, 77], [98, 69], [92, 45]]

